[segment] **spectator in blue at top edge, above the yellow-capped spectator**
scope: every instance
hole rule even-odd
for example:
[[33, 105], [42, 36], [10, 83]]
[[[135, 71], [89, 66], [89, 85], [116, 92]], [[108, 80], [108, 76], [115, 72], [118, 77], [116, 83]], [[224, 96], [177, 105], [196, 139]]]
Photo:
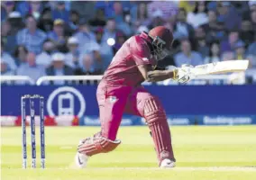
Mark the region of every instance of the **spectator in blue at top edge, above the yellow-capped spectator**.
[[64, 22], [69, 22], [69, 11], [66, 10], [65, 2], [58, 1], [56, 8], [52, 11], [53, 20], [61, 19]]

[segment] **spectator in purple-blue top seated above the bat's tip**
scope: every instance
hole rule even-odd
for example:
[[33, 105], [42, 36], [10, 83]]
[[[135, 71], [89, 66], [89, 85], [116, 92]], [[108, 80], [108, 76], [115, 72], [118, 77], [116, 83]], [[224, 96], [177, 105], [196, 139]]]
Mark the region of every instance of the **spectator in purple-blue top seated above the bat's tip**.
[[232, 51], [234, 44], [239, 40], [238, 31], [230, 31], [228, 35], [228, 40], [223, 40], [221, 42], [221, 52]]

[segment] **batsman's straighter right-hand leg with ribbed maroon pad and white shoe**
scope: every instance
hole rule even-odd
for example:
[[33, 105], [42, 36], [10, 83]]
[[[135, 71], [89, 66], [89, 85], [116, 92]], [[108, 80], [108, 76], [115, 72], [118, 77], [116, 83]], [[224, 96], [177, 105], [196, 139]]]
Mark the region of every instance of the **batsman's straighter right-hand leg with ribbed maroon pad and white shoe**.
[[144, 88], [138, 88], [130, 95], [125, 112], [132, 112], [145, 118], [151, 130], [159, 166], [175, 166], [169, 124], [159, 98], [151, 95]]

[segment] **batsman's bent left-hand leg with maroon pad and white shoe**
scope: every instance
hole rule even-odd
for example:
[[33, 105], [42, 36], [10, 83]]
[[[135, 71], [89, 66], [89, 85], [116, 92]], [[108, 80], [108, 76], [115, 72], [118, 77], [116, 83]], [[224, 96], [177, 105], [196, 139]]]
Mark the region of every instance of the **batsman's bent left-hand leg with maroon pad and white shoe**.
[[97, 93], [99, 103], [101, 131], [93, 137], [82, 139], [78, 145], [78, 153], [75, 157], [79, 167], [87, 165], [88, 157], [98, 153], [106, 153], [114, 150], [121, 141], [116, 139], [123, 110], [127, 102], [128, 91], [122, 88]]

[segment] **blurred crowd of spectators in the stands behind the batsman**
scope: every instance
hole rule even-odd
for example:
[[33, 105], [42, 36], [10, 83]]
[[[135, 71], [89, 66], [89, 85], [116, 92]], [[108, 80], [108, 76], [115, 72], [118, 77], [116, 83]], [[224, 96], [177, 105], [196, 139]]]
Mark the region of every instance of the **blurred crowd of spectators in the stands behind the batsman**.
[[1, 1], [1, 75], [101, 75], [125, 40], [158, 25], [175, 37], [160, 68], [256, 67], [256, 1]]

